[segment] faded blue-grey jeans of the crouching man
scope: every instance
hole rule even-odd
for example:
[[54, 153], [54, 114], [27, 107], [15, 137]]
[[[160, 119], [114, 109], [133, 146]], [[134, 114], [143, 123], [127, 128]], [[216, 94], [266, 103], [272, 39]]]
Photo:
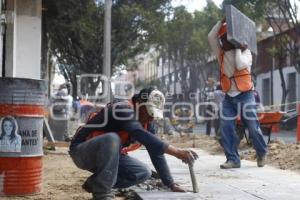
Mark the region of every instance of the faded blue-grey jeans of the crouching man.
[[93, 195], [106, 196], [113, 187], [129, 187], [151, 176], [151, 170], [144, 163], [120, 154], [120, 144], [116, 133], [106, 133], [70, 150], [76, 166], [93, 173], [88, 178]]

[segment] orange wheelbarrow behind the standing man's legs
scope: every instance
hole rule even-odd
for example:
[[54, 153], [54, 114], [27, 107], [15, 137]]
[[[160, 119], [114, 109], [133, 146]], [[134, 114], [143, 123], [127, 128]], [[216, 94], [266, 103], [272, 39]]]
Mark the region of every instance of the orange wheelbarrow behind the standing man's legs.
[[[258, 112], [257, 117], [260, 123], [260, 129], [264, 136], [268, 137], [268, 143], [271, 141], [271, 134], [273, 127], [280, 124], [280, 121], [285, 113], [281, 111], [267, 111], [267, 112]], [[237, 135], [241, 141], [244, 137], [247, 140], [247, 143], [250, 144], [249, 135], [246, 134], [246, 127], [244, 126], [240, 118], [237, 119]]]

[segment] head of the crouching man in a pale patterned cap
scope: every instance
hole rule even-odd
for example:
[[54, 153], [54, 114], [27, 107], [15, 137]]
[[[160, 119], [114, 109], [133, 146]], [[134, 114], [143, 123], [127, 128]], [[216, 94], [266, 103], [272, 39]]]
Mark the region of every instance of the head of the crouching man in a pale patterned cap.
[[133, 103], [138, 111], [139, 121], [147, 123], [155, 118], [163, 118], [165, 97], [153, 87], [144, 88], [138, 95], [133, 96]]

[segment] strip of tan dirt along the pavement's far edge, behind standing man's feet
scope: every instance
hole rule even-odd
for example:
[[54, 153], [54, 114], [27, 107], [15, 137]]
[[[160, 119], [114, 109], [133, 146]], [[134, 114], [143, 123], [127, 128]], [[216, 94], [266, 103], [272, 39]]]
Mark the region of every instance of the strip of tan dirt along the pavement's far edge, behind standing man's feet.
[[[200, 135], [194, 138], [192, 135], [185, 135], [180, 138], [169, 136], [164, 139], [177, 147], [194, 147], [203, 149], [213, 155], [223, 155], [223, 149], [214, 137]], [[286, 144], [283, 141], [275, 140], [271, 141], [268, 147], [268, 165], [300, 173], [300, 144]], [[256, 159], [255, 150], [246, 143], [245, 139], [242, 140], [239, 146], [239, 152], [242, 159], [252, 161]]]

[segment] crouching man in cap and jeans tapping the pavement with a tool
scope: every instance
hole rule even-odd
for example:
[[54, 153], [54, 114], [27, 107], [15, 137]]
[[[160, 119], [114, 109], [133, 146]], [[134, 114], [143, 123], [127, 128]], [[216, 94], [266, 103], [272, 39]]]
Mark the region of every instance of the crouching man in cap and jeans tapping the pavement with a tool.
[[113, 199], [112, 188], [136, 185], [151, 176], [144, 163], [127, 154], [140, 144], [146, 147], [162, 182], [174, 192], [185, 192], [174, 183], [164, 153], [185, 163], [193, 162], [198, 155], [162, 142], [147, 128], [154, 118], [163, 117], [164, 102], [160, 91], [145, 88], [131, 102], [107, 104], [77, 130], [70, 156], [77, 167], [93, 173], [82, 186], [93, 194], [93, 199]]

